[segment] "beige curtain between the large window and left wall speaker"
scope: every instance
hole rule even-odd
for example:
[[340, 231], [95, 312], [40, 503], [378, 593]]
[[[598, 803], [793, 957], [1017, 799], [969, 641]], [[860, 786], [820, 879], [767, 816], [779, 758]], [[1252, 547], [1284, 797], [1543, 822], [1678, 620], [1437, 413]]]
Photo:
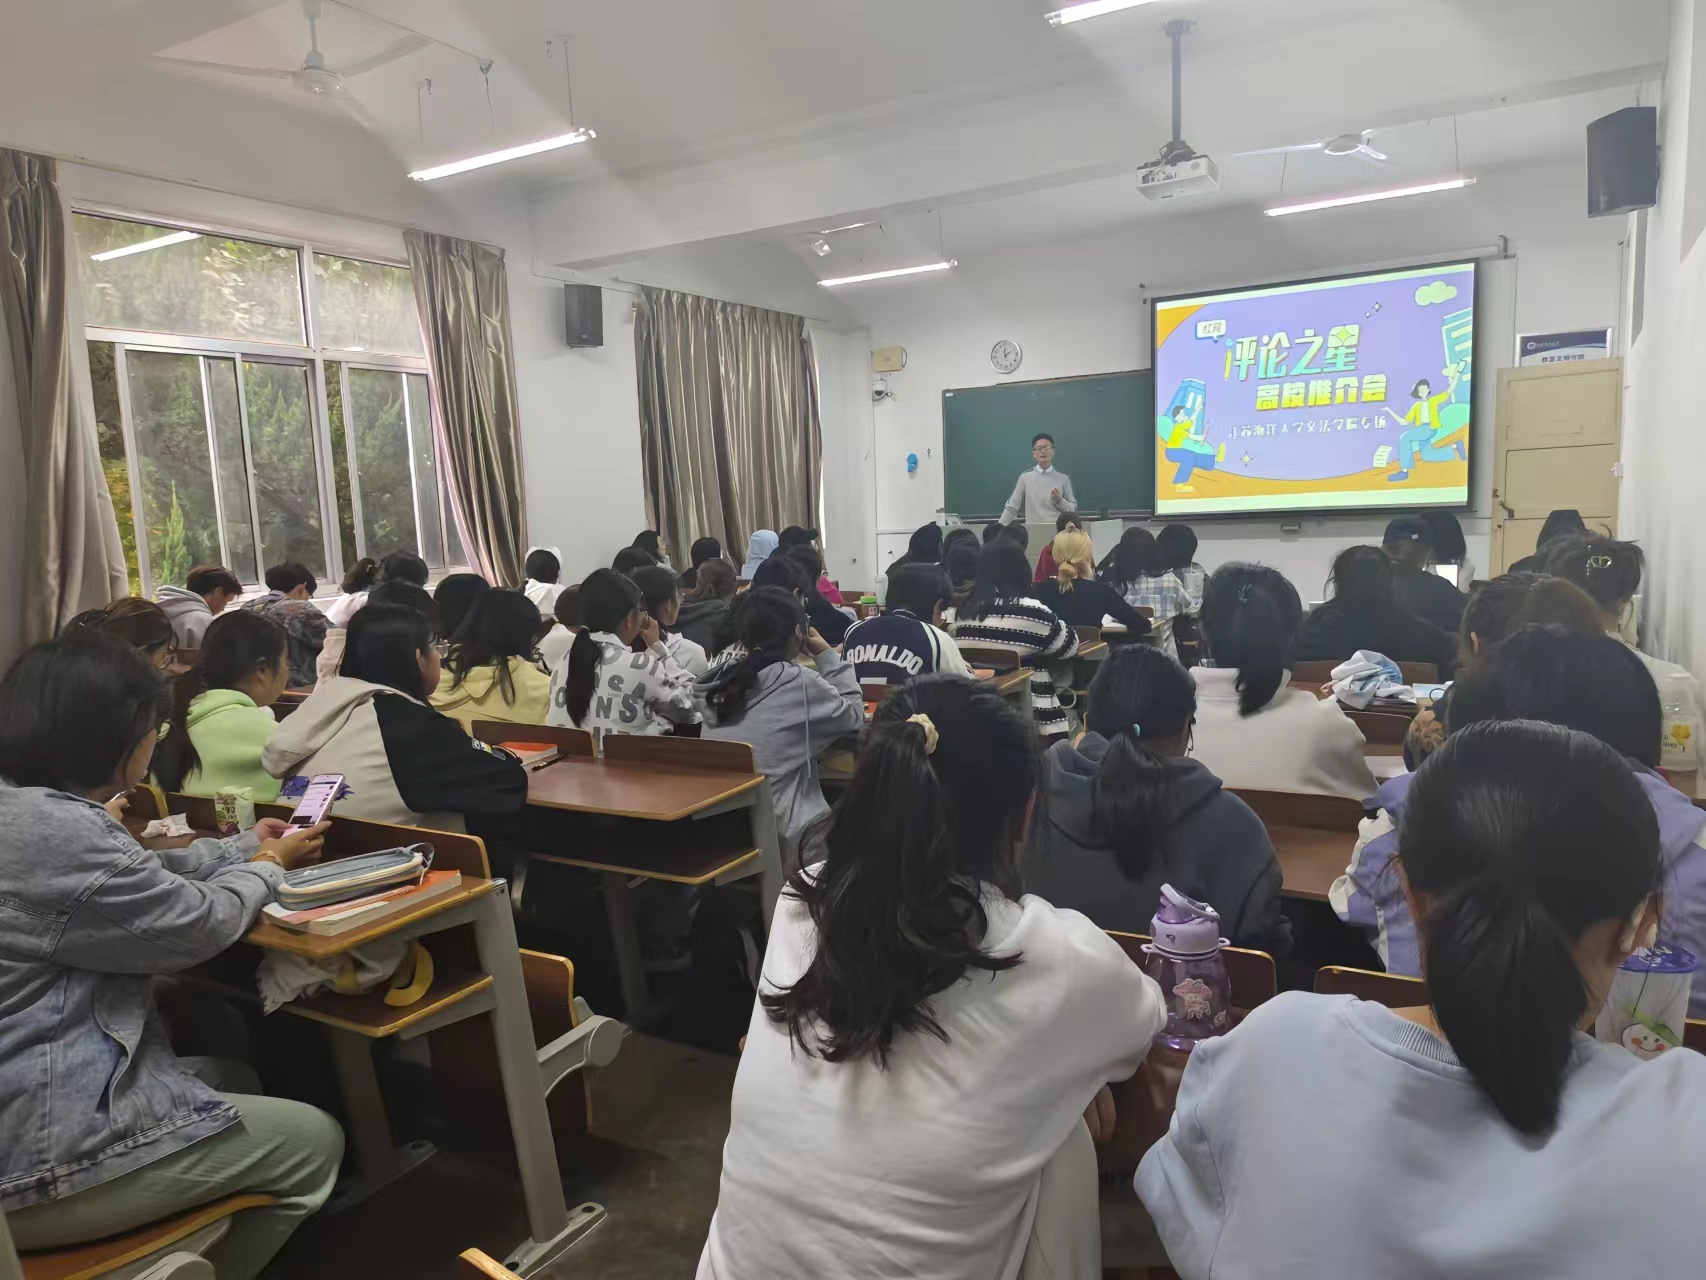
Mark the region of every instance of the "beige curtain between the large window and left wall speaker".
[[503, 251], [423, 230], [408, 230], [403, 239], [426, 335], [433, 425], [449, 461], [457, 531], [479, 573], [519, 587], [527, 509]]

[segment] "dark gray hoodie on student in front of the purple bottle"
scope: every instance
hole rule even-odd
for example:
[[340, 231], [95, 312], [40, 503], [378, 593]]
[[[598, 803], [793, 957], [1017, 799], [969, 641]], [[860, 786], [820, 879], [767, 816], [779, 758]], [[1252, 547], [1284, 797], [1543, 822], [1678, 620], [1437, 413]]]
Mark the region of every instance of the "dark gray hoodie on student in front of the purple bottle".
[[1239, 947], [1274, 956], [1291, 951], [1280, 913], [1280, 860], [1262, 819], [1208, 766], [1189, 756], [1165, 763], [1179, 817], [1148, 870], [1133, 879], [1097, 835], [1092, 788], [1107, 739], [1085, 734], [1056, 742], [1042, 758], [1037, 814], [1025, 850], [1025, 893], [1083, 911], [1102, 928], [1148, 934], [1162, 884], [1220, 911], [1221, 934]]

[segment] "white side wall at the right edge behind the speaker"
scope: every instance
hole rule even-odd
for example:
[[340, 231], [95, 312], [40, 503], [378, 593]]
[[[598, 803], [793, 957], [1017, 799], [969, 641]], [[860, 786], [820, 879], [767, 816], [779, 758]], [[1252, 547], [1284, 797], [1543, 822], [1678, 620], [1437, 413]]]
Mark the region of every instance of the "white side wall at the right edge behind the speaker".
[[[1658, 207], [1646, 217], [1646, 271], [1633, 282], [1643, 323], [1629, 348], [1624, 389], [1624, 483], [1619, 529], [1646, 551], [1643, 647], [1706, 671], [1706, 558], [1701, 476], [1706, 474], [1706, 247], [1689, 207], [1706, 193], [1706, 12], [1672, 10], [1670, 70], [1660, 104]], [[1631, 222], [1639, 224], [1641, 215]], [[1631, 254], [1631, 261], [1634, 254]]]

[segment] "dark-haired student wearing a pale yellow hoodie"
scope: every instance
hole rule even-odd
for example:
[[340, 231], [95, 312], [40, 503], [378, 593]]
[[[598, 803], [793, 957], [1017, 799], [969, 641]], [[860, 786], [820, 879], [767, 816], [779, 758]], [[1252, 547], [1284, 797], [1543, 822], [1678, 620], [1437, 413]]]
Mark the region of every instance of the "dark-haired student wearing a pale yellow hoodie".
[[469, 734], [474, 720], [544, 724], [551, 712], [551, 676], [536, 657], [537, 633], [539, 606], [525, 594], [483, 592], [457, 628], [428, 701]]

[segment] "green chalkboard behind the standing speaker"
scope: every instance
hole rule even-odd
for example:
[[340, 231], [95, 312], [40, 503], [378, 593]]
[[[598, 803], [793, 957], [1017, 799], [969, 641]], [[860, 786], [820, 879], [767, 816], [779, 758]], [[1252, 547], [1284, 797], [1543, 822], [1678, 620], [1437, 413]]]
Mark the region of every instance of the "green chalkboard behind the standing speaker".
[[1037, 432], [1054, 437], [1054, 464], [1071, 476], [1080, 510], [1155, 505], [1155, 377], [1140, 369], [943, 391], [947, 510], [998, 515], [1018, 473], [1032, 466]]

